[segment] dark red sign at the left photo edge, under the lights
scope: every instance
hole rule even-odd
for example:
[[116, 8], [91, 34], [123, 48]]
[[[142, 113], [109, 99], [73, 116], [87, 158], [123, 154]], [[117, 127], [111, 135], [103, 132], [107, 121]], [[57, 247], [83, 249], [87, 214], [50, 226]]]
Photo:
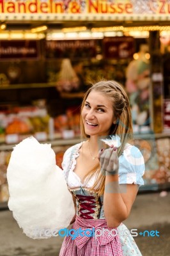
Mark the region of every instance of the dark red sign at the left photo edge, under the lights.
[[40, 55], [36, 40], [1, 40], [0, 60], [36, 59]]

